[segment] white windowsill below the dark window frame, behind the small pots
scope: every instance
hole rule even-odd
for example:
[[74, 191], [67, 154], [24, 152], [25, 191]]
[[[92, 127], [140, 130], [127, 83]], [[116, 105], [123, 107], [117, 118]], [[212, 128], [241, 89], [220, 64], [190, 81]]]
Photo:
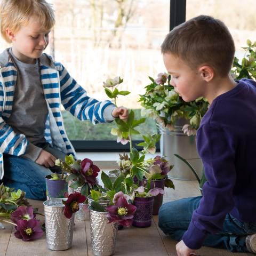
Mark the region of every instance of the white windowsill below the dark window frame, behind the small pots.
[[[119, 161], [119, 154], [123, 152], [78, 152], [76, 153], [78, 159], [89, 158], [92, 162], [99, 166], [100, 169], [116, 169], [118, 167], [117, 161]], [[128, 152], [125, 154], [129, 154]], [[156, 154], [146, 154], [145, 159], [160, 155], [159, 152]]]

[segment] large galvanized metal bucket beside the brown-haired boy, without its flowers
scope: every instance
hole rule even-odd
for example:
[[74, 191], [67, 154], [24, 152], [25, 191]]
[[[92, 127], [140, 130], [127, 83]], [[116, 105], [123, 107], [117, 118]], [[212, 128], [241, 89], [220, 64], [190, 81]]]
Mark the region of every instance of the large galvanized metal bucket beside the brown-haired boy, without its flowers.
[[197, 171], [198, 176], [201, 178], [203, 164], [201, 158], [198, 156], [196, 149], [195, 136], [187, 136], [183, 133], [182, 127], [187, 124], [185, 119], [178, 119], [174, 126], [174, 131], [163, 129], [158, 125], [158, 129], [162, 136], [160, 139], [161, 156], [166, 156], [170, 164], [174, 164], [173, 169], [169, 172], [169, 177], [180, 180], [195, 180], [196, 177], [189, 167], [183, 163], [174, 154], [178, 154], [185, 158]]

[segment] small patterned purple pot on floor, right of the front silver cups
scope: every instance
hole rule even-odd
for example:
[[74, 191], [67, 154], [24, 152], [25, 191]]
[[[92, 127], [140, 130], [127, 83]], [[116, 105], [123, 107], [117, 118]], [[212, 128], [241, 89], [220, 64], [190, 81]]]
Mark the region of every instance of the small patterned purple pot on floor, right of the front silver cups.
[[133, 205], [137, 210], [133, 216], [132, 226], [146, 228], [151, 226], [154, 196], [135, 197]]

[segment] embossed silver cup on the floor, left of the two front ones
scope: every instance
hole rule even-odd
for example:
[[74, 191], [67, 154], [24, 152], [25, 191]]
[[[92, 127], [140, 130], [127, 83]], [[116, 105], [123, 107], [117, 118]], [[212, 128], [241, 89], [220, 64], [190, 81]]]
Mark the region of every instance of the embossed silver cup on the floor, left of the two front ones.
[[67, 250], [72, 246], [74, 214], [66, 218], [62, 200], [55, 198], [44, 202], [45, 231], [47, 248], [53, 251]]

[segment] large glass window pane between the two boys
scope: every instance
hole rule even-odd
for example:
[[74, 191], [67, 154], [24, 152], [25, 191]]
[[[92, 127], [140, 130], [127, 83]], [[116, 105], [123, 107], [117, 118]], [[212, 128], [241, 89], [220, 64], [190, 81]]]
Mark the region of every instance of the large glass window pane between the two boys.
[[[139, 94], [150, 84], [148, 76], [165, 71], [160, 52], [169, 31], [170, 0], [51, 0], [56, 10], [54, 29], [55, 60], [62, 62], [70, 75], [90, 97], [106, 100], [102, 82], [121, 76], [118, 106], [140, 109]], [[51, 47], [47, 51], [51, 52]], [[140, 111], [136, 111], [137, 116]], [[63, 113], [70, 139], [116, 139], [110, 134], [113, 124], [92, 125]], [[143, 130], [156, 131], [150, 119]], [[138, 139], [138, 138], [134, 138]]]

